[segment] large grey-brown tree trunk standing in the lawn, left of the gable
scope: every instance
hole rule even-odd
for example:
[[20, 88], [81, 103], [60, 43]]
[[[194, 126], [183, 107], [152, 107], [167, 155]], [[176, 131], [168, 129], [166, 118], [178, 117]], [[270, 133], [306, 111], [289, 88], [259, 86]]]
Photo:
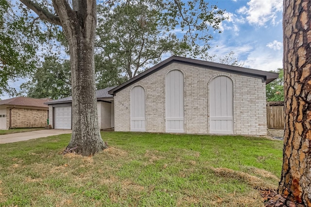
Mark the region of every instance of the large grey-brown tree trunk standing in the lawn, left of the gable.
[[[72, 86], [72, 136], [68, 148], [89, 156], [106, 148], [100, 134], [95, 94], [96, 1], [73, 1], [73, 10], [53, 0], [68, 39]], [[67, 13], [67, 16], [62, 14]]]

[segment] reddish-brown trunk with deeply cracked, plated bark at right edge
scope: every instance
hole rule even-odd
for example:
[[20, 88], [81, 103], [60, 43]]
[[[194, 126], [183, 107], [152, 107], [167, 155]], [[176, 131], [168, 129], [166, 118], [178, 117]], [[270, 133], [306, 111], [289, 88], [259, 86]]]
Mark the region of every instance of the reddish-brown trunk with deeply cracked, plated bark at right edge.
[[274, 200], [311, 207], [311, 1], [284, 0], [283, 6], [285, 132]]

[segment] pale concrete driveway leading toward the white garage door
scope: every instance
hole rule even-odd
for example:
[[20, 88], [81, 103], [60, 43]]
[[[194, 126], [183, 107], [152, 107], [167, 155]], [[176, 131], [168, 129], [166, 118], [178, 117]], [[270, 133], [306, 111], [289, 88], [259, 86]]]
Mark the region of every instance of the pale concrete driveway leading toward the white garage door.
[[71, 129], [43, 129], [38, 131], [19, 132], [14, 134], [0, 135], [1, 143], [15, 143], [41, 137], [49, 137], [59, 134], [70, 134]]

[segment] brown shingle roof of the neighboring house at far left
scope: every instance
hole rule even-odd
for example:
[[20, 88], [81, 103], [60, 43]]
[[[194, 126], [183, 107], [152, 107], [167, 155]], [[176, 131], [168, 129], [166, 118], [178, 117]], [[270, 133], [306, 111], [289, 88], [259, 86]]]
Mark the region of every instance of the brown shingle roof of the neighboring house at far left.
[[14, 106], [30, 106], [30, 107], [43, 107], [48, 108], [44, 105], [44, 102], [50, 101], [49, 98], [29, 98], [29, 97], [15, 97], [5, 100], [0, 100], [0, 105], [14, 105]]

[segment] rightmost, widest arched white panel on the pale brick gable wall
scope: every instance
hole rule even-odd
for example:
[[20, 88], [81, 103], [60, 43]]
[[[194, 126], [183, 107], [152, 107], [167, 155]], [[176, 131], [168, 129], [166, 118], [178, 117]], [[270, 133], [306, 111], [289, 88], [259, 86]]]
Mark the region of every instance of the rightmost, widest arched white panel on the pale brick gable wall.
[[233, 134], [233, 83], [226, 76], [209, 84], [209, 116], [211, 134]]

